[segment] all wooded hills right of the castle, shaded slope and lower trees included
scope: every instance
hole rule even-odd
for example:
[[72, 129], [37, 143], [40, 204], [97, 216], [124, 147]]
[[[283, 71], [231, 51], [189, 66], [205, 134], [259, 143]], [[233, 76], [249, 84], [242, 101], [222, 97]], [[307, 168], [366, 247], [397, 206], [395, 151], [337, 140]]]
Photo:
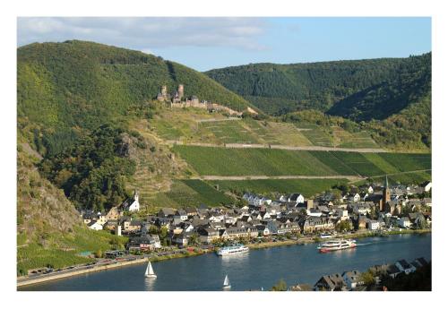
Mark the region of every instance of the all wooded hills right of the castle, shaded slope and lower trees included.
[[[383, 147], [431, 147], [431, 53], [206, 72], [283, 121], [366, 130]], [[334, 117], [336, 116], [336, 117]]]

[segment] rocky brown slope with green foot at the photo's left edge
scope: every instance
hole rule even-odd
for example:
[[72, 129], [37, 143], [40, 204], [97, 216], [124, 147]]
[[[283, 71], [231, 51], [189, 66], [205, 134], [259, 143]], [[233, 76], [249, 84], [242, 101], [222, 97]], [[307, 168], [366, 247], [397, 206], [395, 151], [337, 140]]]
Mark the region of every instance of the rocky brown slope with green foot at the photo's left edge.
[[62, 190], [40, 176], [38, 158], [21, 145], [17, 156], [17, 274], [90, 262], [79, 253], [123, 248], [126, 238], [83, 226]]

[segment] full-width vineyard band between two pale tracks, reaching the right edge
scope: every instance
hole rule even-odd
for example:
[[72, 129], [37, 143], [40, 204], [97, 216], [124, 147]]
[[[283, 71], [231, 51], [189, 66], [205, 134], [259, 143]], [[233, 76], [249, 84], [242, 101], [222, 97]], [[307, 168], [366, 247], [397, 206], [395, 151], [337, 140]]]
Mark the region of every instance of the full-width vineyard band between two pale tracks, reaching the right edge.
[[391, 171], [396, 174], [431, 169], [430, 154], [184, 145], [175, 145], [174, 150], [203, 176], [384, 176]]

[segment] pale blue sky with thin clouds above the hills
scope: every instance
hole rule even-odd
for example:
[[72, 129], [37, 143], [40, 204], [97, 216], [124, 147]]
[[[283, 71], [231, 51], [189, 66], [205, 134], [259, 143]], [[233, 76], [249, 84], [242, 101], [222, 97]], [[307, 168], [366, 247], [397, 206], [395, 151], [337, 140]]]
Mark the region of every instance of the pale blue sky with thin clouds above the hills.
[[430, 17], [19, 17], [17, 43], [90, 40], [207, 71], [431, 51]]

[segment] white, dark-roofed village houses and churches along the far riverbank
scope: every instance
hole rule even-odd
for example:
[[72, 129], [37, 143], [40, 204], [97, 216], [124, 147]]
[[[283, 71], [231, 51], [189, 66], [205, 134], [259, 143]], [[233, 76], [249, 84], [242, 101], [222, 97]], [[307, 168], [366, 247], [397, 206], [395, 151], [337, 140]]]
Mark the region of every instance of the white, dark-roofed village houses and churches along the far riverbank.
[[140, 209], [138, 193], [134, 193], [132, 198], [107, 213], [84, 212], [82, 215], [91, 229], [108, 229], [116, 235], [131, 236], [129, 245], [141, 251], [160, 247], [157, 234], [162, 229], [166, 231], [163, 244], [184, 247], [192, 243], [210, 245], [241, 238], [329, 232], [342, 222], [346, 223], [343, 226], [347, 230], [421, 228], [431, 226], [431, 200], [411, 196], [426, 192], [428, 185], [389, 188], [386, 180], [383, 186], [361, 187], [356, 193], [342, 194], [340, 199], [335, 199], [331, 193], [315, 200], [306, 200], [301, 193], [281, 195], [276, 200], [245, 193], [243, 199], [247, 205], [241, 208], [208, 208], [205, 205], [180, 210], [164, 208], [140, 219], [125, 216]]

